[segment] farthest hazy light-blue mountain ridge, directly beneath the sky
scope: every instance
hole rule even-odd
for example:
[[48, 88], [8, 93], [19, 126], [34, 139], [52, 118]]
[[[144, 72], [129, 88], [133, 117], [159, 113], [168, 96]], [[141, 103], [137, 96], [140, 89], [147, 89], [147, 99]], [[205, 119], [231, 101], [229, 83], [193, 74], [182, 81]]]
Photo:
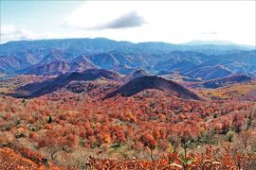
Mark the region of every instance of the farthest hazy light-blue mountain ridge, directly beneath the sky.
[[82, 53], [100, 53], [112, 50], [122, 52], [144, 52], [144, 53], [168, 53], [171, 51], [229, 51], [229, 50], [250, 50], [236, 45], [184, 45], [166, 42], [117, 42], [104, 38], [96, 39], [59, 39], [59, 40], [38, 40], [7, 42], [0, 45], [0, 55], [13, 55], [13, 53], [27, 52], [30, 54], [42, 51], [46, 54], [51, 49], [63, 50], [72, 55]]

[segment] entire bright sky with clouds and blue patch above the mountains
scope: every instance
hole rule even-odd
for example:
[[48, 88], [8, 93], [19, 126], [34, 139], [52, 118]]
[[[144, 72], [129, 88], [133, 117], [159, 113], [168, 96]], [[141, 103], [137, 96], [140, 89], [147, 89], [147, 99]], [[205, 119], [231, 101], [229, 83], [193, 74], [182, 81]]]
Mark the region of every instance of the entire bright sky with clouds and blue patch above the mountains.
[[0, 1], [1, 43], [105, 37], [255, 45], [255, 1]]

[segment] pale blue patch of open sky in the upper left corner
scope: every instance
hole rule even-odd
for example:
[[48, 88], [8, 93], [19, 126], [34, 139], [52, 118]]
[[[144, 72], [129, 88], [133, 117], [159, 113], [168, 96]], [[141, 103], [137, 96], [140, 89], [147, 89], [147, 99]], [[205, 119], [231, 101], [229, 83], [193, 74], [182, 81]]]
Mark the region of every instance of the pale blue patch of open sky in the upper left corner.
[[38, 32], [60, 29], [65, 16], [82, 1], [1, 1], [1, 26], [18, 26]]

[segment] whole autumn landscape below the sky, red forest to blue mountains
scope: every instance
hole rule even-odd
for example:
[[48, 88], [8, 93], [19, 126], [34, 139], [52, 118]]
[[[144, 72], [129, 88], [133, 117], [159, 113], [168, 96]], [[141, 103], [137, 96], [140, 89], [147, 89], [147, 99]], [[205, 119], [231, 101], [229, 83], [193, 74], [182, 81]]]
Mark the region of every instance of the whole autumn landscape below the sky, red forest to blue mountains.
[[1, 44], [0, 169], [253, 169], [256, 52], [207, 49]]

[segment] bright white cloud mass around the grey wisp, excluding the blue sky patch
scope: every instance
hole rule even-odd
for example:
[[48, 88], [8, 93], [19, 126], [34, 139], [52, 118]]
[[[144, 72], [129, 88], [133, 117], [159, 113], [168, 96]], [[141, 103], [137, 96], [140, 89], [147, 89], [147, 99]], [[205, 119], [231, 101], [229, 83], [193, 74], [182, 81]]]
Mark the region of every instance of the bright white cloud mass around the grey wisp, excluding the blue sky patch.
[[131, 42], [228, 40], [255, 45], [254, 6], [253, 1], [86, 1], [64, 17], [64, 26], [58, 30], [53, 26], [47, 26], [48, 32], [1, 26], [1, 42], [106, 37]]

